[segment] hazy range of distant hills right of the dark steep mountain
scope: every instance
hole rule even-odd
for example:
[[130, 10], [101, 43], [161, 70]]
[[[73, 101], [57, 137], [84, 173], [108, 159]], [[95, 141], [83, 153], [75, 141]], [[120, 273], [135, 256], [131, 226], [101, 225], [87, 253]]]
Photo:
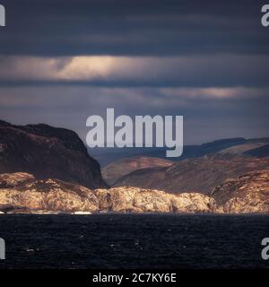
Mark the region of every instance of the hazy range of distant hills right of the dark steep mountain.
[[[222, 139], [187, 146], [178, 161], [169, 161], [166, 157], [136, 155], [110, 162], [102, 168], [102, 174], [113, 187], [160, 188], [168, 192], [198, 190], [208, 193], [227, 177], [267, 168], [268, 143], [269, 138]], [[158, 156], [160, 151], [147, 154]], [[137, 164], [140, 161], [147, 161], [147, 164]], [[161, 165], [161, 161], [165, 164]]]

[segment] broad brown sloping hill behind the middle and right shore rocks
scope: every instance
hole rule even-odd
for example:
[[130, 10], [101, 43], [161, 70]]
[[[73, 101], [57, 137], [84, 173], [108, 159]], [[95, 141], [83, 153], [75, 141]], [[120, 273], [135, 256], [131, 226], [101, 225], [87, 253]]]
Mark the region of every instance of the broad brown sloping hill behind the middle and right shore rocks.
[[113, 187], [142, 187], [161, 189], [170, 193], [193, 190], [208, 195], [227, 178], [248, 171], [269, 168], [269, 157], [252, 158], [218, 154], [174, 162], [169, 167], [135, 170], [117, 180]]

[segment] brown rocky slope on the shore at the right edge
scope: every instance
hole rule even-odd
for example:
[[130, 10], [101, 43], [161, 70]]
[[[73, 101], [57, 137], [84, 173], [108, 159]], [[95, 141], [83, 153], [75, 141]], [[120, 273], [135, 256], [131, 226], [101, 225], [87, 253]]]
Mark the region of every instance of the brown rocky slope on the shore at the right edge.
[[224, 213], [269, 213], [269, 170], [227, 179], [211, 196]]

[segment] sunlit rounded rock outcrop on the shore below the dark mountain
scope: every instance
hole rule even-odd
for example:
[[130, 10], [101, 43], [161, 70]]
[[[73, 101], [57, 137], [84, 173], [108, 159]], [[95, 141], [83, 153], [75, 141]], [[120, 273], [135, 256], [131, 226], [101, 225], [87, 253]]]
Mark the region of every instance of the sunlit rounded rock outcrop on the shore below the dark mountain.
[[[98, 199], [86, 187], [58, 179], [37, 180], [22, 173], [4, 174], [2, 178], [0, 210], [96, 212], [99, 208]], [[3, 188], [3, 183], [7, 187]]]

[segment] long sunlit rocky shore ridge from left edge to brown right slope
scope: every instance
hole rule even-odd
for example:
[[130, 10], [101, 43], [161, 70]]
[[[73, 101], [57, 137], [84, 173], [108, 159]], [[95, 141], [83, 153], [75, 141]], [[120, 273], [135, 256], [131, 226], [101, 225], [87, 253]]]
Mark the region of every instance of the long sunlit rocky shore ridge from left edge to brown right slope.
[[88, 189], [57, 179], [38, 180], [25, 173], [0, 178], [0, 211], [213, 213], [213, 198], [197, 193], [171, 195], [137, 187]]

